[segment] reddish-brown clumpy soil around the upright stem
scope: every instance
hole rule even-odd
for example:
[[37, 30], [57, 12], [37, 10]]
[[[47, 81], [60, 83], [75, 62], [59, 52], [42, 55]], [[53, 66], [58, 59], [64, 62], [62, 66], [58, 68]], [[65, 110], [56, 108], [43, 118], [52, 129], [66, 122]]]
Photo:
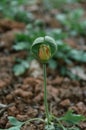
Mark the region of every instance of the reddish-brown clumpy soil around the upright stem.
[[[8, 116], [20, 121], [45, 117], [43, 75], [35, 78], [30, 70], [18, 77], [13, 73], [15, 57], [25, 56], [24, 51], [12, 49], [15, 32], [24, 27], [23, 23], [0, 21], [0, 128], [3, 129], [10, 127]], [[58, 70], [47, 68], [47, 90], [49, 109], [55, 116], [63, 115], [68, 109], [86, 116], [86, 81], [71, 80], [60, 76]], [[86, 130], [86, 122], [80, 123], [79, 127]], [[44, 124], [32, 122], [21, 129], [43, 130]]]

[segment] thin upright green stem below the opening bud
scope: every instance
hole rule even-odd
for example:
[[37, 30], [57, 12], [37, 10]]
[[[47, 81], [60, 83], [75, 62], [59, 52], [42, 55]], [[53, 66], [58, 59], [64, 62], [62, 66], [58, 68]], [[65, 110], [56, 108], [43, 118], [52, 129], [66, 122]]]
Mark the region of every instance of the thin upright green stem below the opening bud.
[[47, 87], [46, 87], [46, 64], [43, 64], [43, 71], [44, 71], [44, 105], [45, 105], [45, 112], [47, 118], [47, 124], [49, 125], [49, 111], [48, 111], [48, 103], [47, 103]]

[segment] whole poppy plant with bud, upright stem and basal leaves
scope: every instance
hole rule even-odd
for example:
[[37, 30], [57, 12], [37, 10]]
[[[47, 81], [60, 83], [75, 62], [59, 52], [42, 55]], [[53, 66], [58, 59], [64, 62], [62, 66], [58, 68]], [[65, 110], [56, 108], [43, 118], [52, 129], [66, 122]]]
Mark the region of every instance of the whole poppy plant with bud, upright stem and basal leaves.
[[[44, 71], [44, 105], [45, 105], [45, 119], [32, 118], [24, 122], [18, 121], [15, 117], [9, 116], [9, 122], [12, 127], [5, 130], [20, 130], [21, 127], [27, 123], [35, 120], [41, 121], [45, 124], [44, 130], [80, 130], [78, 124], [80, 121], [85, 121], [86, 117], [78, 114], [74, 114], [72, 110], [69, 110], [62, 117], [55, 117], [49, 112], [47, 102], [47, 82], [46, 82], [46, 63], [57, 50], [56, 42], [49, 36], [38, 37], [32, 44], [31, 51], [33, 55], [43, 64]], [[63, 125], [64, 124], [64, 125]], [[0, 129], [3, 130], [3, 129]]]

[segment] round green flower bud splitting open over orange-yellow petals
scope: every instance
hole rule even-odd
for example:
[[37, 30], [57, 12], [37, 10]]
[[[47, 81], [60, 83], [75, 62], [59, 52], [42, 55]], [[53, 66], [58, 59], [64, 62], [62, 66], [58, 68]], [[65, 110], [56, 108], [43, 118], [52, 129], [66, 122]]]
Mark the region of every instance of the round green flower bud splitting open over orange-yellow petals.
[[57, 45], [50, 36], [38, 37], [32, 44], [32, 53], [42, 63], [46, 63], [56, 52]]

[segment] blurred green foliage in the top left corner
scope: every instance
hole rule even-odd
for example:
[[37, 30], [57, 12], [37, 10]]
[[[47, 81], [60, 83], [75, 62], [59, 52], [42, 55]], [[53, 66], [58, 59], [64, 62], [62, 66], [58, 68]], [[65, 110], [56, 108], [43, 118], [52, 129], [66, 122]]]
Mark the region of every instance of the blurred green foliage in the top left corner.
[[27, 0], [1, 0], [0, 11], [3, 17], [15, 19], [16, 21], [29, 23], [34, 20], [32, 13], [24, 10]]

